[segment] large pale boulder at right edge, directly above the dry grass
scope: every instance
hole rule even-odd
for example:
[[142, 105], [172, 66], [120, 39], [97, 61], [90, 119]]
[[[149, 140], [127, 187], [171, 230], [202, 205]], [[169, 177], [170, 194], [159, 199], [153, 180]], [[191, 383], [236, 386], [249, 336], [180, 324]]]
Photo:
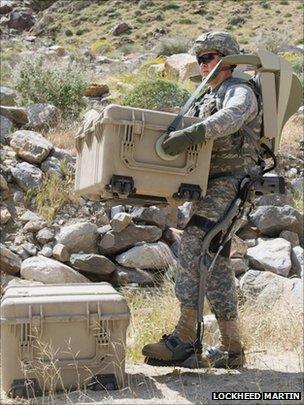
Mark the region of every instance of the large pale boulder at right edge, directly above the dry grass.
[[257, 306], [303, 313], [303, 283], [299, 278], [250, 270], [242, 277], [240, 287], [247, 299]]

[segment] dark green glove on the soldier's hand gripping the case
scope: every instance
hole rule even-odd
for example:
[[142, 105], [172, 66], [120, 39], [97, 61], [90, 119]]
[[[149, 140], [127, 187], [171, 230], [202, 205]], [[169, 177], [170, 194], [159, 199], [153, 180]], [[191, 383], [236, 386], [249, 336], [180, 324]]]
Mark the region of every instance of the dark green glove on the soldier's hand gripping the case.
[[167, 155], [175, 156], [189, 146], [204, 142], [204, 140], [205, 126], [200, 122], [179, 131], [170, 132], [168, 138], [162, 143], [162, 148]]

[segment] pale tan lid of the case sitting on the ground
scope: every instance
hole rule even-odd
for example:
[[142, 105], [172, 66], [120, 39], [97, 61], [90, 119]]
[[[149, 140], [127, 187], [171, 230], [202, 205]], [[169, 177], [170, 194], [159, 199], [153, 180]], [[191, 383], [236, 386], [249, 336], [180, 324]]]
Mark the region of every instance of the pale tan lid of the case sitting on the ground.
[[129, 308], [125, 298], [106, 282], [9, 286], [1, 300], [1, 321], [92, 313], [115, 319], [129, 317]]

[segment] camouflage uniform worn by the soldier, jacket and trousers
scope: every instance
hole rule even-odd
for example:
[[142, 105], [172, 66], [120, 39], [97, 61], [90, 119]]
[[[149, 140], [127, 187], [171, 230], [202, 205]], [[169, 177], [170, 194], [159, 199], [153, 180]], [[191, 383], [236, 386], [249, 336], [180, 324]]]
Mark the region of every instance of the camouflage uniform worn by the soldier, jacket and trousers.
[[[217, 222], [236, 196], [238, 183], [255, 170], [261, 114], [254, 91], [240, 79], [229, 78], [209, 90], [189, 111], [203, 119], [206, 139], [213, 139], [210, 180], [206, 197], [192, 204], [192, 215], [205, 220], [206, 226], [186, 226], [180, 245], [180, 266], [175, 285], [182, 305], [197, 307], [198, 258], [203, 237]], [[210, 258], [209, 258], [210, 261]], [[237, 318], [234, 271], [228, 257], [219, 256], [207, 277], [206, 296], [219, 320]]]

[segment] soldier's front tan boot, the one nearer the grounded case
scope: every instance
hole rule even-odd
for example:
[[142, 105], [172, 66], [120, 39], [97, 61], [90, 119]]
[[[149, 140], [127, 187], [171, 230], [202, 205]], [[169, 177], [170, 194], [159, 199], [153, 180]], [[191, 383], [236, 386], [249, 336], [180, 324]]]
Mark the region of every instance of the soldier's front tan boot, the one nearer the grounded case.
[[[147, 358], [153, 358], [157, 360], [178, 360], [178, 358], [175, 358], [178, 357], [178, 355], [174, 355], [175, 343], [176, 347], [180, 346], [180, 349], [182, 349], [184, 346], [186, 347], [187, 345], [192, 345], [196, 339], [196, 324], [196, 309], [181, 306], [180, 318], [173, 333], [169, 336], [164, 335], [162, 339], [157, 343], [150, 343], [145, 345], [142, 349], [142, 354]], [[170, 342], [170, 339], [173, 340]], [[179, 345], [179, 343], [181, 343], [181, 345]], [[182, 359], [182, 353], [180, 357]]]

